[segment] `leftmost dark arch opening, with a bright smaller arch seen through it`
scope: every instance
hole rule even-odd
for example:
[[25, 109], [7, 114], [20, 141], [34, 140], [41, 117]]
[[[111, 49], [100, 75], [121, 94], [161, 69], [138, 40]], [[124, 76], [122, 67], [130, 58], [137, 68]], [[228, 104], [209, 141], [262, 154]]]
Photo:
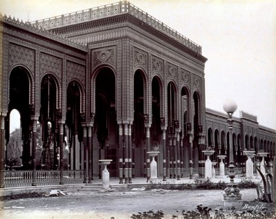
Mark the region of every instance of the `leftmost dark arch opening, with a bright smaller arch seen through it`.
[[21, 139], [22, 152], [21, 163], [22, 169], [32, 168], [32, 149], [30, 145], [30, 122], [31, 116], [34, 114], [34, 105], [32, 103], [32, 77], [26, 67], [17, 66], [10, 72], [10, 89], [9, 89], [9, 103], [8, 116], [6, 117], [6, 140], [8, 143], [10, 136], [10, 123], [8, 118], [12, 110], [17, 110], [21, 118]]

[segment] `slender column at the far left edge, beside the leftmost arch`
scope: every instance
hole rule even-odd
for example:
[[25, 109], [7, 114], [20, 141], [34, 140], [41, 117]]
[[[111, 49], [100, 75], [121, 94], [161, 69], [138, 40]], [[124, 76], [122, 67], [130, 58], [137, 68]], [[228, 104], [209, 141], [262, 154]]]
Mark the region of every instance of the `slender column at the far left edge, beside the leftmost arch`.
[[6, 114], [3, 114], [0, 116], [0, 134], [1, 134], [1, 138], [0, 138], [0, 187], [3, 188], [5, 187], [4, 185], [4, 171], [5, 171], [5, 167], [4, 167], [4, 159], [5, 159], [5, 116]]

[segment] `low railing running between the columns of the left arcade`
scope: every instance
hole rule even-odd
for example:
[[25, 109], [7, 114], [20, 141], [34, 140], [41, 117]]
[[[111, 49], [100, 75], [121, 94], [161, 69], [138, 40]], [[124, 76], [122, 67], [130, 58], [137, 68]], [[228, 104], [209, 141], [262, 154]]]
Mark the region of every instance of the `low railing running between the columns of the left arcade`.
[[[30, 187], [32, 186], [33, 172], [26, 171], [4, 171], [5, 187]], [[59, 170], [35, 171], [37, 185], [59, 185], [61, 174]], [[83, 183], [83, 170], [64, 170], [63, 184]]]

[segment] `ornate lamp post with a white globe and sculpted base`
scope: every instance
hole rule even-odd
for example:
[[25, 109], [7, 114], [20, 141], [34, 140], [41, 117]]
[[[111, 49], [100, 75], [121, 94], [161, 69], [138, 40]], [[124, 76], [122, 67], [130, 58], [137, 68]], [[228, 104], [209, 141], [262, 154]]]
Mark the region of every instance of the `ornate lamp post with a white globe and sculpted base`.
[[232, 136], [232, 129], [233, 129], [233, 120], [232, 116], [234, 112], [237, 110], [237, 104], [234, 101], [226, 101], [223, 105], [224, 111], [228, 114], [228, 127], [229, 127], [229, 178], [230, 183], [228, 183], [226, 189], [224, 189], [224, 206], [225, 207], [239, 207], [242, 205], [242, 195], [239, 194], [239, 188], [237, 184], [234, 183], [235, 178], [235, 165], [234, 165], [234, 158], [233, 158], [233, 136]]

